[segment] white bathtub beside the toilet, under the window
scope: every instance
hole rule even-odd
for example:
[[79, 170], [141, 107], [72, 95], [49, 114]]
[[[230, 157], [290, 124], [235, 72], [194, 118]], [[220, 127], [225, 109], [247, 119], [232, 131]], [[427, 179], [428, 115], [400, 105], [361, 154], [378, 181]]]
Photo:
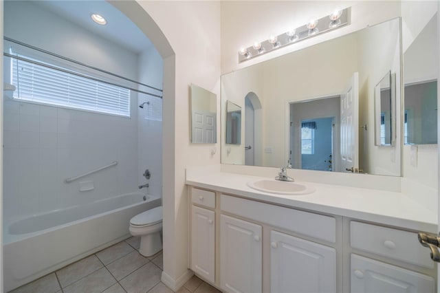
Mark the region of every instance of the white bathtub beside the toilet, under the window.
[[159, 196], [128, 193], [5, 224], [5, 292], [126, 239], [131, 217], [160, 204]]

